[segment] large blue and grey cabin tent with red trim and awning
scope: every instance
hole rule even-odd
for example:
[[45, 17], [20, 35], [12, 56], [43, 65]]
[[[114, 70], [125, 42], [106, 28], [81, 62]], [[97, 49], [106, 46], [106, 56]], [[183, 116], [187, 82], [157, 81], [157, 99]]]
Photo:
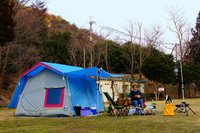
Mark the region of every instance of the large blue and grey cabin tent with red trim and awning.
[[[39, 62], [19, 77], [18, 84], [8, 105], [16, 108], [15, 116], [73, 116], [74, 106], [91, 107], [98, 104], [104, 111], [103, 102], [97, 95], [97, 77], [121, 77], [98, 68]], [[98, 102], [98, 103], [97, 103]]]

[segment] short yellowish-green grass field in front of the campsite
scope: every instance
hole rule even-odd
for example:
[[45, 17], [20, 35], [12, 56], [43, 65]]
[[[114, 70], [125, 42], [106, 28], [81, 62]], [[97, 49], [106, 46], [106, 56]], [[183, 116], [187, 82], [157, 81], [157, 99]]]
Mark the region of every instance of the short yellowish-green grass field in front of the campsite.
[[[172, 100], [180, 104], [181, 99]], [[114, 116], [102, 113], [95, 117], [13, 117], [15, 109], [0, 108], [0, 132], [31, 133], [79, 133], [79, 132], [148, 132], [148, 133], [200, 133], [200, 99], [186, 99], [195, 115], [176, 112], [174, 116], [164, 116], [165, 101], [157, 101], [156, 115]]]

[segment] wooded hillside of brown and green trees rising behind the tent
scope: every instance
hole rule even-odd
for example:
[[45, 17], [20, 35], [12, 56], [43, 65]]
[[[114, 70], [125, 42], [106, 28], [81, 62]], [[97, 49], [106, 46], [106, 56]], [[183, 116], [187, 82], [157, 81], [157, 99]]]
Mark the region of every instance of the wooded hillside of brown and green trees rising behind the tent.
[[[159, 26], [153, 27], [152, 32], [145, 32], [143, 43], [141, 42], [141, 23], [137, 23], [137, 34], [140, 35], [138, 38], [134, 38], [133, 23], [130, 23], [130, 29], [125, 29], [130, 33], [130, 39], [123, 44], [109, 40], [110, 33], [96, 32], [92, 33], [93, 41], [90, 42], [89, 26], [88, 29], [78, 28], [76, 24], [60, 16], [48, 14], [45, 3], [40, 0], [35, 0], [29, 6], [27, 2], [30, 1], [4, 0], [1, 3], [0, 23], [4, 27], [0, 27], [0, 90], [14, 89], [13, 84], [16, 84], [18, 76], [39, 61], [84, 67], [84, 49], [86, 68], [102, 66], [104, 70], [111, 73], [131, 74], [133, 79], [133, 74], [139, 73], [138, 80], [141, 80], [141, 68], [148, 57], [162, 56], [171, 61], [174, 60], [172, 55], [166, 55], [158, 50], [162, 43], [159, 42], [159, 37], [162, 35]], [[195, 30], [193, 29], [193, 39], [185, 48], [186, 52], [183, 52], [184, 65], [188, 62], [199, 64], [198, 27], [197, 23]], [[193, 65], [190, 66], [193, 67]], [[199, 67], [195, 66], [195, 68]], [[197, 69], [194, 72], [197, 73]], [[170, 76], [173, 78], [174, 75]], [[190, 82], [186, 83], [195, 82], [199, 85], [199, 77], [195, 75]]]

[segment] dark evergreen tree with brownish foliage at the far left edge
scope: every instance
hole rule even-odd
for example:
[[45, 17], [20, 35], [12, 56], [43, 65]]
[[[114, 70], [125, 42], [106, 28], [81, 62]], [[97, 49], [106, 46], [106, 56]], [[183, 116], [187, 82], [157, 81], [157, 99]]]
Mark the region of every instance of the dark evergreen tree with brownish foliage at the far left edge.
[[16, 22], [14, 20], [14, 6], [13, 0], [0, 0], [0, 89], [3, 86], [10, 45], [7, 47], [4, 60], [2, 60], [2, 47], [5, 46], [7, 42], [13, 41], [15, 37], [14, 27]]

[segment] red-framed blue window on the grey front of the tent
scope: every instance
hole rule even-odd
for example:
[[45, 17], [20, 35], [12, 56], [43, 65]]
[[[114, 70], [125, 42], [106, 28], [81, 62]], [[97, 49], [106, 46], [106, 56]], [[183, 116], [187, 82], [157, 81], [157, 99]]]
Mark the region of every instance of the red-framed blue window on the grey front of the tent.
[[47, 88], [44, 107], [62, 107], [64, 100], [64, 88]]

